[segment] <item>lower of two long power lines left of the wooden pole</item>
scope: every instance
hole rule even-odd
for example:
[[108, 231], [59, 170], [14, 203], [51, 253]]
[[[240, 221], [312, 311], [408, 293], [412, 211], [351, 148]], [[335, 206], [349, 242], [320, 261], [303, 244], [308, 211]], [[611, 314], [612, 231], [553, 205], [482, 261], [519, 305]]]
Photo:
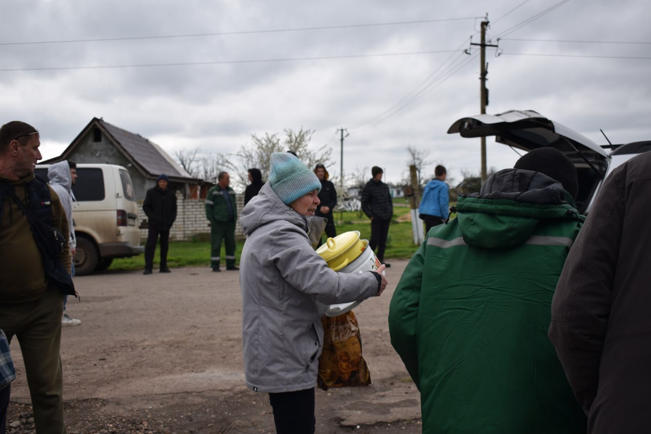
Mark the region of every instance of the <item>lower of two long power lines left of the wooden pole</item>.
[[452, 51], [456, 51], [456, 50], [412, 51], [409, 53], [355, 54], [355, 55], [320, 56], [320, 57], [319, 56], [318, 57], [287, 57], [283, 59], [248, 59], [248, 60], [239, 60], [239, 61], [143, 63], [139, 65], [43, 66], [37, 68], [0, 68], [0, 72], [53, 71], [53, 70], [76, 70], [76, 69], [152, 68], [152, 67], [160, 67], [160, 66], [233, 65], [233, 64], [240, 64], [240, 63], [299, 62], [299, 61], [312, 61], [312, 60], [355, 59], [355, 58], [363, 58], [363, 57], [389, 57], [389, 56], [450, 53]]

